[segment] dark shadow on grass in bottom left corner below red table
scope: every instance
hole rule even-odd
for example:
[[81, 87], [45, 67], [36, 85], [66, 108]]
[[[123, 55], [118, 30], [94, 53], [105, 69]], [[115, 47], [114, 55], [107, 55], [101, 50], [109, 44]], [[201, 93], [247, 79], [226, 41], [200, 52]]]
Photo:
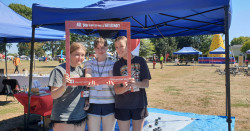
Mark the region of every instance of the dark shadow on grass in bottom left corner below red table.
[[10, 119], [0, 121], [1, 131], [42, 131], [43, 128], [38, 126], [37, 121], [41, 119], [39, 115], [31, 114], [29, 129], [24, 128], [24, 116], [17, 116]]

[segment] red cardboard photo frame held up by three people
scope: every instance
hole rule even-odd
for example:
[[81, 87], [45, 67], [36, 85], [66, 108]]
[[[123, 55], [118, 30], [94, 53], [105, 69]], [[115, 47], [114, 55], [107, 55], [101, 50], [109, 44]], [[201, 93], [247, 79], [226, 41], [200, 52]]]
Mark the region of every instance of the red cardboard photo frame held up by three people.
[[70, 74], [70, 29], [99, 29], [99, 30], [126, 30], [127, 31], [127, 50], [128, 50], [128, 76], [113, 77], [81, 77], [70, 78], [71, 82], [67, 86], [88, 85], [89, 82], [95, 81], [96, 85], [106, 84], [113, 81], [114, 84], [120, 84], [131, 78], [131, 41], [130, 41], [130, 22], [113, 22], [113, 21], [65, 21], [66, 32], [66, 73]]

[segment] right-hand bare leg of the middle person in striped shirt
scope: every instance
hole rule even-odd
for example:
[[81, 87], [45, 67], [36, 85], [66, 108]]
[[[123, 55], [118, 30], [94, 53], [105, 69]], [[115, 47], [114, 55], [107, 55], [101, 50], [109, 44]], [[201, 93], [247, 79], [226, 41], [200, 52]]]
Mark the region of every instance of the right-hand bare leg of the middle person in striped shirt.
[[111, 114], [105, 117], [102, 117], [102, 128], [103, 131], [114, 131], [115, 129], [115, 115]]

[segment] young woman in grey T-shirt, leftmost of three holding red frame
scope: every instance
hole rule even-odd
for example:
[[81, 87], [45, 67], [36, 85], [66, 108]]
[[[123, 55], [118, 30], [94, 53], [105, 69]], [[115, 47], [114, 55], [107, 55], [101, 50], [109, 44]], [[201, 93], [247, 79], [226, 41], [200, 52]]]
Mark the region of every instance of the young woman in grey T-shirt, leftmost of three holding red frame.
[[[70, 46], [70, 77], [84, 77], [80, 64], [86, 48], [81, 43]], [[80, 131], [85, 129], [87, 113], [83, 109], [85, 98], [81, 95], [84, 86], [66, 86], [70, 82], [66, 64], [57, 66], [50, 74], [49, 86], [53, 98], [51, 122], [53, 131]]]

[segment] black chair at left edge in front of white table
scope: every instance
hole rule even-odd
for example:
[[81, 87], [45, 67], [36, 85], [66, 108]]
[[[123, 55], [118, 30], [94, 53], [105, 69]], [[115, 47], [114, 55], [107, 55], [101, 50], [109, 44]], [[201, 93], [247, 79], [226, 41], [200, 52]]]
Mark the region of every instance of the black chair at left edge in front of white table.
[[4, 79], [2, 83], [4, 85], [3, 91], [6, 94], [6, 101], [9, 95], [12, 95], [15, 100], [15, 97], [13, 94], [20, 91], [20, 85], [18, 81], [16, 79]]

